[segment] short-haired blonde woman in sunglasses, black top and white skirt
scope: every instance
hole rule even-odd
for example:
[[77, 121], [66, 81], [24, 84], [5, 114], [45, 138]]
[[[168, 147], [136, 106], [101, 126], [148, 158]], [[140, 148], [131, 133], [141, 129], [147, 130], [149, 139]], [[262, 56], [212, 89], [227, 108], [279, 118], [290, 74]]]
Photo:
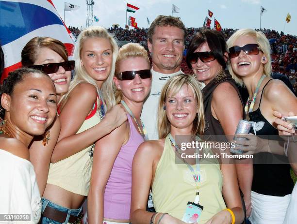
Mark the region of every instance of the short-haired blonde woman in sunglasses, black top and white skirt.
[[[261, 31], [243, 29], [236, 31], [227, 44], [230, 73], [238, 84], [246, 86], [249, 94], [245, 107], [246, 118], [259, 122], [256, 134], [269, 135], [270, 138], [278, 135], [278, 130], [273, 126], [273, 111], [282, 114], [295, 112], [297, 98], [283, 82], [270, 78], [272, 66], [267, 38]], [[251, 133], [255, 134], [253, 130]], [[249, 220], [253, 224], [282, 224], [293, 189], [290, 165], [263, 164], [272, 157], [283, 161], [285, 159], [267, 152], [270, 147], [277, 147], [277, 144], [269, 144], [267, 137], [250, 135], [247, 138], [250, 141], [246, 141], [246, 144], [256, 142], [255, 149], [260, 151], [254, 155], [254, 163], [262, 163], [253, 164], [249, 169], [253, 170], [253, 178], [247, 176], [245, 186], [242, 187], [245, 189], [245, 200], [248, 200], [246, 203], [251, 201]]]

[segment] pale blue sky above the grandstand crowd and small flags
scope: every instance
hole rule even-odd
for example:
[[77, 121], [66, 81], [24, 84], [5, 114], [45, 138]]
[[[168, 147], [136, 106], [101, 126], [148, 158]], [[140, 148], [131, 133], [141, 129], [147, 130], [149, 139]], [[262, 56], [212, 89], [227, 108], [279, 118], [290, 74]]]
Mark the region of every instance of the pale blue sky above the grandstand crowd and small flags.
[[[52, 0], [59, 14], [64, 16], [64, 0]], [[99, 18], [94, 25], [111, 27], [119, 24], [124, 27], [126, 21], [127, 2], [139, 7], [136, 13], [127, 13], [136, 18], [138, 27], [147, 28], [147, 17], [152, 22], [157, 15], [171, 15], [172, 4], [180, 8], [181, 17], [186, 27], [201, 27], [208, 9], [219, 21], [222, 28], [260, 28], [260, 7], [267, 10], [262, 15], [262, 28], [297, 35], [297, 0], [94, 0], [93, 15]], [[85, 27], [87, 5], [85, 0], [66, 0], [79, 5], [77, 11], [65, 12], [66, 25]], [[291, 22], [285, 22], [287, 14], [292, 16]]]

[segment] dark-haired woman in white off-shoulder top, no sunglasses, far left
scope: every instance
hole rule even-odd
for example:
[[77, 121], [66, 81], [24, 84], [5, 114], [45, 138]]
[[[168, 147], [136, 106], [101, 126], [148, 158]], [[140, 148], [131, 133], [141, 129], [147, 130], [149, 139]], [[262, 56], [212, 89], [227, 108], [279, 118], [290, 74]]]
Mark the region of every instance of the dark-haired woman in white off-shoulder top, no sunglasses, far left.
[[[54, 120], [56, 102], [52, 81], [38, 70], [17, 69], [9, 73], [3, 82], [0, 109], [0, 213], [6, 213], [8, 219], [16, 216], [9, 214], [18, 214], [21, 219], [33, 224], [40, 219], [41, 198], [34, 168], [29, 161], [28, 147], [34, 135], [43, 134]], [[2, 216], [2, 221], [6, 221], [5, 216]]]

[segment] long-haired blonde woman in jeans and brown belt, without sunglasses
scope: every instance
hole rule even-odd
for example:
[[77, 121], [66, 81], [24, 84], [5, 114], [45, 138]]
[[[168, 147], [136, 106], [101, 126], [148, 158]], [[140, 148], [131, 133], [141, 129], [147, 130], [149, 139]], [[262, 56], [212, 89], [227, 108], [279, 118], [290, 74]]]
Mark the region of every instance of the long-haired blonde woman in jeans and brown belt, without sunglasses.
[[61, 131], [42, 198], [42, 224], [80, 220], [89, 192], [92, 146], [127, 119], [119, 105], [112, 108], [117, 50], [115, 39], [102, 27], [89, 27], [77, 39], [75, 76], [58, 108]]

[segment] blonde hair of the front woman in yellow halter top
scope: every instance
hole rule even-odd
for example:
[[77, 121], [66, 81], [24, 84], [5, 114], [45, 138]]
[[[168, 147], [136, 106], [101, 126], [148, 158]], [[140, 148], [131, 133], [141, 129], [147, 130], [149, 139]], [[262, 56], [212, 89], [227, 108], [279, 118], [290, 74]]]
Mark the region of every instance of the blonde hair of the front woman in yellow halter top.
[[198, 85], [196, 78], [192, 75], [179, 74], [171, 77], [162, 89], [159, 108], [158, 108], [158, 132], [159, 139], [165, 138], [170, 133], [170, 122], [167, 118], [164, 105], [166, 99], [172, 95], [175, 95], [181, 88], [186, 85], [190, 87], [193, 92], [195, 99], [197, 100], [198, 113], [193, 121], [192, 136], [197, 134], [202, 135], [204, 133], [204, 108], [202, 92]]

